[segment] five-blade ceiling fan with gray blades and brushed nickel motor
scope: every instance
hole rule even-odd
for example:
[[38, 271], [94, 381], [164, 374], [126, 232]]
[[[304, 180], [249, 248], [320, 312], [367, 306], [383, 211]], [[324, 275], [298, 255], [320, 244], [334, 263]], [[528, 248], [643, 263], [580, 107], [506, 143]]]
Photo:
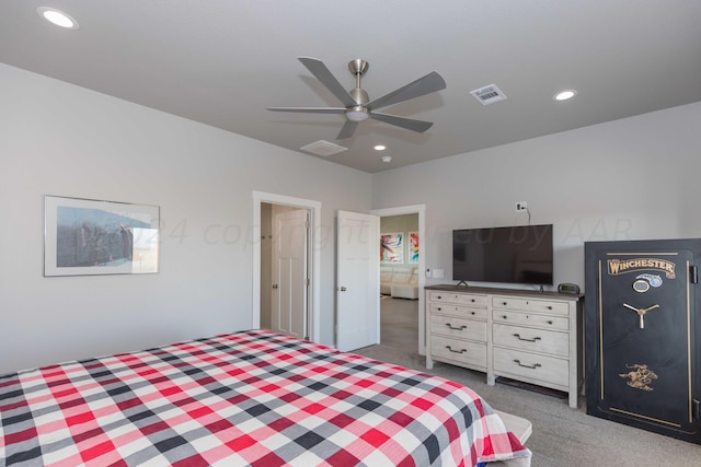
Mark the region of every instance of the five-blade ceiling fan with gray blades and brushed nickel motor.
[[344, 107], [267, 107], [267, 109], [275, 112], [307, 112], [313, 114], [345, 114], [346, 122], [341, 128], [336, 139], [350, 138], [358, 122], [367, 120], [368, 118], [423, 133], [432, 127], [433, 122], [399, 117], [397, 115], [380, 114], [375, 110], [446, 89], [446, 82], [440, 74], [432, 71], [425, 77], [412, 81], [382, 97], [370, 101], [368, 93], [360, 87], [360, 78], [363, 78], [369, 68], [367, 61], [355, 59], [348, 63], [348, 70], [350, 70], [350, 73], [353, 73], [356, 79], [356, 85], [350, 91], [346, 91], [343, 87], [321, 60], [310, 57], [299, 57], [299, 61], [341, 101]]

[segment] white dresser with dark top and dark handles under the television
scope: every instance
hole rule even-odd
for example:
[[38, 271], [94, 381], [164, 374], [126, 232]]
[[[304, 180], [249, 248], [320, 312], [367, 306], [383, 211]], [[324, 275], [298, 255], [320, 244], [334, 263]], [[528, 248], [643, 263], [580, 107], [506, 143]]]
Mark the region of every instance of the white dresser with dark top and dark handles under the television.
[[440, 361], [568, 394], [584, 384], [582, 295], [458, 285], [426, 288], [426, 366]]

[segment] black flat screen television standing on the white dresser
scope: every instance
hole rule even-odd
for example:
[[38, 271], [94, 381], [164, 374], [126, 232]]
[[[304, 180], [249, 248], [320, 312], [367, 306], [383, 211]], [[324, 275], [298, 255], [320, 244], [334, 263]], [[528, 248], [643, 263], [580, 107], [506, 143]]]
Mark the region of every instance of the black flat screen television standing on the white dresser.
[[452, 279], [553, 284], [552, 224], [452, 231]]

